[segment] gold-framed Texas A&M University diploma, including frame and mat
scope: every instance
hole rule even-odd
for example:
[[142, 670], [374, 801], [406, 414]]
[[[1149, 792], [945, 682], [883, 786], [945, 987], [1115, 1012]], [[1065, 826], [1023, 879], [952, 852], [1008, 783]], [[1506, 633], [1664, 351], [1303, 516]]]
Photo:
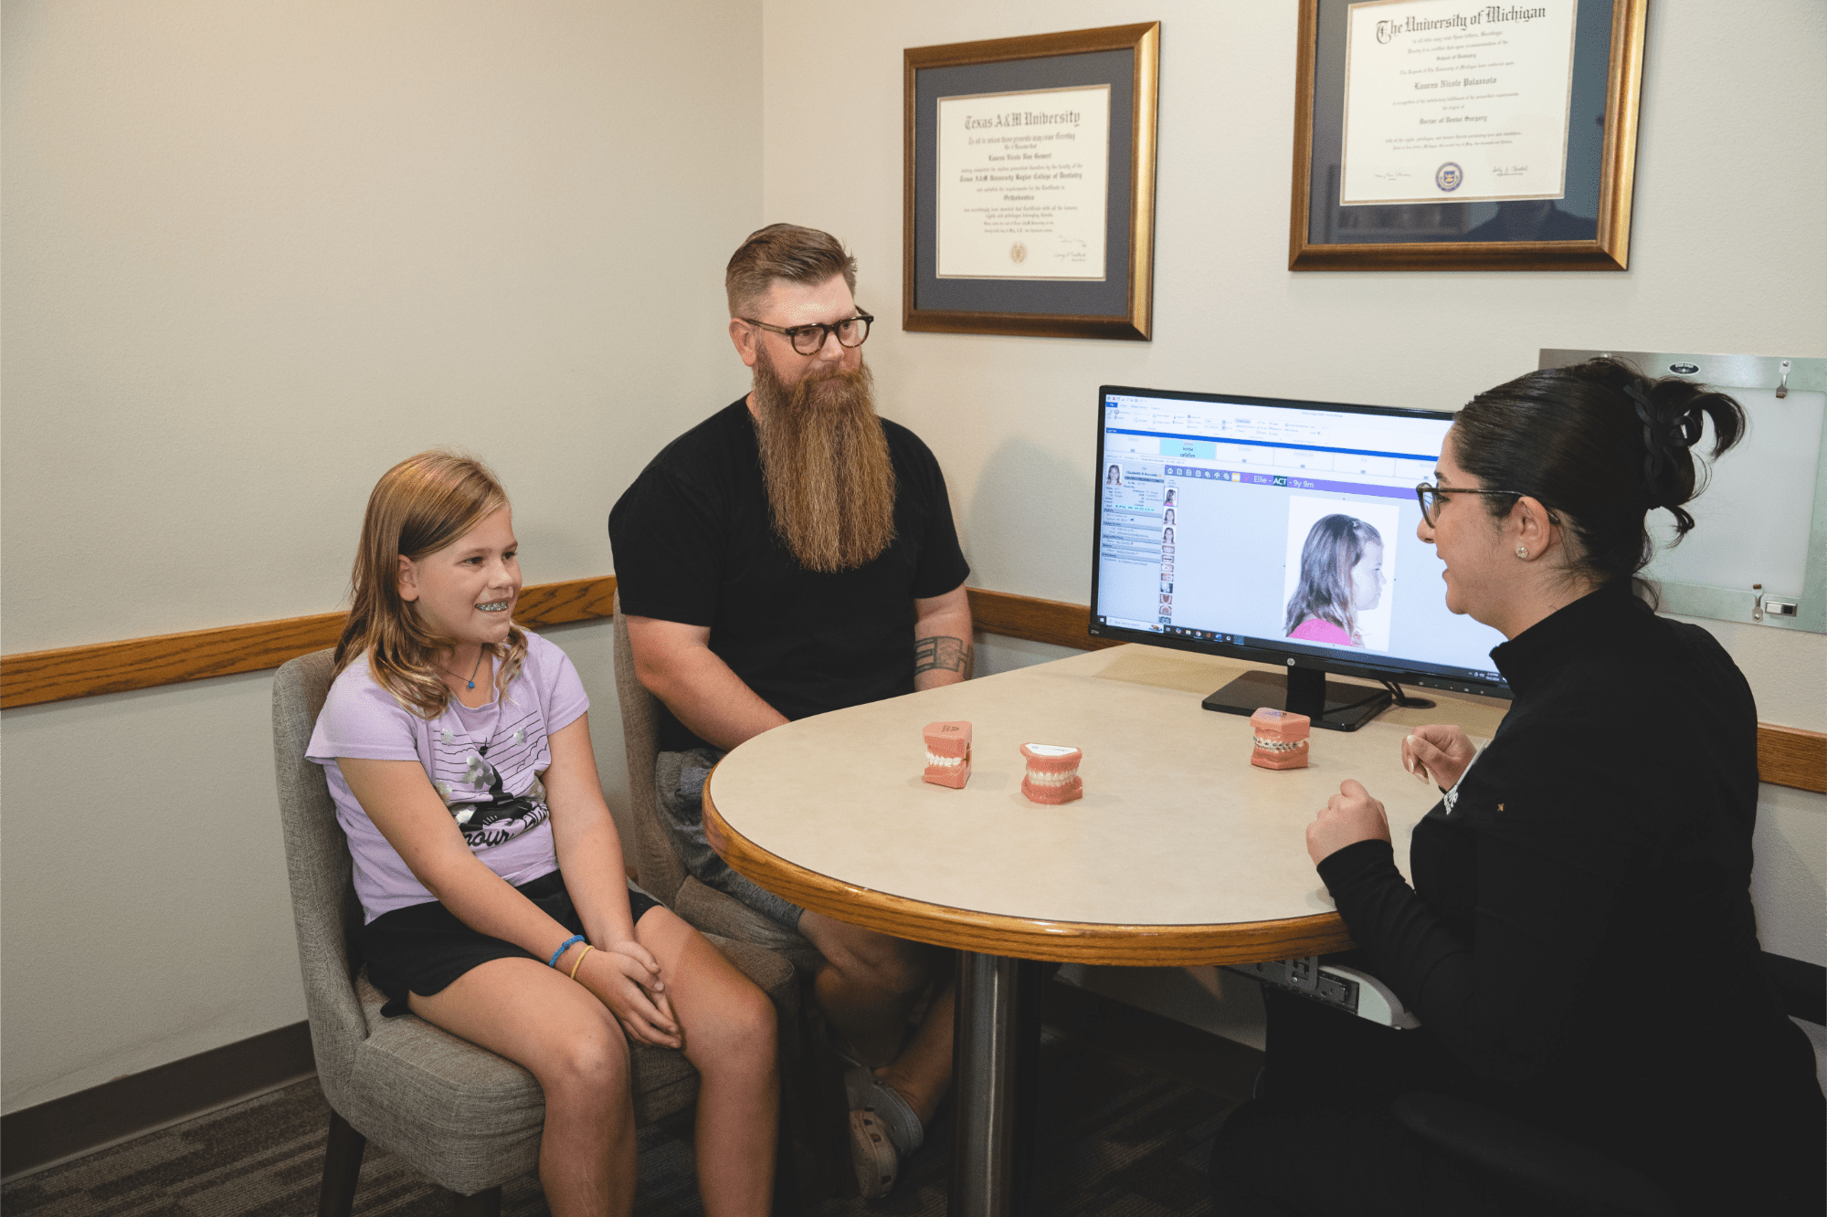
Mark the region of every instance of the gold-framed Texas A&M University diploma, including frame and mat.
[[1149, 336], [1160, 24], [912, 48], [901, 325]]

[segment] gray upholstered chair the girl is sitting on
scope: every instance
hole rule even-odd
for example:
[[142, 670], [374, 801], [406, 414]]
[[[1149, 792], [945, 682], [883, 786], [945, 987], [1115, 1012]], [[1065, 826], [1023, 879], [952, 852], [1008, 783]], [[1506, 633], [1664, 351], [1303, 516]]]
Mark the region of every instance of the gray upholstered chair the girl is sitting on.
[[[272, 682], [272, 747], [298, 967], [318, 1082], [331, 1106], [318, 1213], [347, 1217], [362, 1149], [375, 1140], [455, 1191], [459, 1213], [495, 1217], [501, 1184], [537, 1166], [544, 1098], [519, 1065], [418, 1018], [380, 1016], [384, 998], [349, 947], [362, 923], [349, 846], [323, 771], [305, 760], [329, 685], [329, 651], [292, 660]], [[782, 1042], [789, 1042], [798, 1023], [793, 967], [758, 947], [713, 941], [773, 998], [782, 1012]], [[696, 1100], [698, 1073], [683, 1054], [632, 1045], [632, 1065], [636, 1120], [663, 1118]], [[786, 1169], [776, 1186], [776, 1212], [797, 1208], [791, 1155], [782, 1155], [778, 1166]]]

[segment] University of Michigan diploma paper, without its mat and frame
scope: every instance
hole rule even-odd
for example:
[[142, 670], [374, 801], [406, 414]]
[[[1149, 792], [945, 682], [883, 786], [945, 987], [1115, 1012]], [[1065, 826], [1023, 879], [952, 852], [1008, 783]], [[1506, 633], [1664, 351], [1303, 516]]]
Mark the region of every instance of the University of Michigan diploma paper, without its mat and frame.
[[1339, 206], [1564, 197], [1577, 4], [1350, 5]]

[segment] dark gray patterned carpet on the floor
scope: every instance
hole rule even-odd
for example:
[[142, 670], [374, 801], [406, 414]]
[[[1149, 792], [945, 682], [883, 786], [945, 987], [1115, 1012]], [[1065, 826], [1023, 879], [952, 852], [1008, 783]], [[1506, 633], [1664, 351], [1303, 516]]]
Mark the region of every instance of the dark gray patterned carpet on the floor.
[[[1080, 1043], [1041, 1047], [1040, 1210], [1061, 1217], [1209, 1212], [1206, 1155], [1231, 1102]], [[329, 1107], [316, 1080], [214, 1111], [0, 1188], [7, 1217], [305, 1217], [316, 1212]], [[636, 1213], [700, 1213], [680, 1124], [641, 1129]], [[950, 1120], [903, 1164], [892, 1197], [833, 1197], [808, 1217], [945, 1213]], [[449, 1195], [369, 1146], [358, 1217], [446, 1217]], [[502, 1193], [504, 1217], [544, 1217], [533, 1177]]]

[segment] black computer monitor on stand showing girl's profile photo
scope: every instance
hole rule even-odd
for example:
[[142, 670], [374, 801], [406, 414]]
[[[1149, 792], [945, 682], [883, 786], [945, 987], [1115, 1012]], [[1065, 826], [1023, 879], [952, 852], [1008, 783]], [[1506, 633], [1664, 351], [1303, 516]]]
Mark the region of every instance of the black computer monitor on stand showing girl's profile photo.
[[1447, 612], [1416, 537], [1452, 415], [1226, 393], [1098, 389], [1091, 632], [1257, 660], [1206, 698], [1354, 731], [1390, 704], [1326, 672], [1509, 696], [1504, 636]]

